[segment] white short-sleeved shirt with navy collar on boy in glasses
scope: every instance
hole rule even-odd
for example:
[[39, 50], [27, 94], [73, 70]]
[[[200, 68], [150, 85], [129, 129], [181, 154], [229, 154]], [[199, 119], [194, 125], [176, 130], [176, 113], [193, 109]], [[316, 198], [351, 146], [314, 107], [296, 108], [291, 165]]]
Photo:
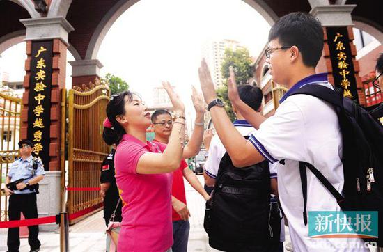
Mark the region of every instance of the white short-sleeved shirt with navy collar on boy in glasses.
[[[299, 161], [308, 162], [338, 190], [343, 189], [342, 136], [336, 113], [327, 102], [310, 95], [291, 95], [305, 85], [332, 88], [327, 74], [299, 81], [280, 100], [274, 116], [253, 132], [249, 141], [269, 162], [277, 164], [279, 199], [288, 219], [294, 251], [368, 251], [357, 238], [310, 238], [304, 226]], [[307, 169], [307, 212], [339, 211], [336, 199]], [[352, 243], [352, 244], [351, 244]], [[353, 249], [353, 246], [357, 248]]]

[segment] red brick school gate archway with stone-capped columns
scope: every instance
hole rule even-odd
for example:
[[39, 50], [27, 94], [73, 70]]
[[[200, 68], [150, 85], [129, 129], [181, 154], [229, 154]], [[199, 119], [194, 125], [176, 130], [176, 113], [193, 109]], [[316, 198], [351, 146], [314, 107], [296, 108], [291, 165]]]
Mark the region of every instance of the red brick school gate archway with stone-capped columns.
[[[343, 26], [351, 30], [353, 21], [357, 28], [368, 29], [380, 43], [383, 42], [382, 1], [357, 0], [244, 0], [249, 6], [273, 24], [276, 19], [294, 11], [311, 12], [318, 17], [324, 29], [331, 26]], [[36, 118], [31, 117], [29, 111], [33, 105], [29, 97], [33, 98], [33, 82], [36, 65], [33, 63], [35, 54], [33, 48], [39, 47], [42, 42], [52, 42], [52, 50], [47, 57], [52, 60], [49, 65], [49, 95], [45, 95], [50, 106], [47, 108], [49, 125], [47, 127], [47, 144], [44, 157], [47, 164], [45, 176], [46, 190], [40, 190], [41, 202], [40, 216], [57, 214], [60, 210], [60, 197], [63, 189], [60, 186], [63, 160], [63, 132], [61, 125], [65, 117], [62, 116], [63, 89], [65, 88], [66, 50], [70, 50], [75, 61], [72, 65], [72, 85], [82, 86], [100, 78], [102, 63], [97, 60], [100, 44], [111, 25], [130, 6], [138, 0], [47, 0], [47, 12], [36, 10], [33, 0], [3, 0], [0, 1], [0, 53], [6, 48], [22, 39], [26, 40], [25, 63], [26, 76], [24, 87], [26, 89], [21, 113], [21, 138], [26, 138], [29, 132], [28, 124]], [[356, 4], [356, 6], [354, 5]], [[349, 32], [352, 44], [352, 30]], [[42, 44], [41, 44], [42, 45]], [[359, 64], [355, 59], [356, 50], [350, 45], [354, 77], [357, 84], [359, 102], [364, 103], [364, 94], [360, 89], [358, 77]], [[40, 48], [40, 47], [39, 47]], [[325, 49], [318, 65], [318, 71], [335, 74], [331, 67], [329, 44], [325, 40]], [[31, 88], [32, 87], [32, 88]], [[32, 114], [33, 115], [33, 114]], [[100, 122], [98, 122], [100, 123]], [[32, 132], [33, 134], [33, 132]], [[89, 154], [90, 155], [90, 154]], [[92, 182], [93, 183], [93, 182]], [[46, 193], [49, 191], [49, 193]]]

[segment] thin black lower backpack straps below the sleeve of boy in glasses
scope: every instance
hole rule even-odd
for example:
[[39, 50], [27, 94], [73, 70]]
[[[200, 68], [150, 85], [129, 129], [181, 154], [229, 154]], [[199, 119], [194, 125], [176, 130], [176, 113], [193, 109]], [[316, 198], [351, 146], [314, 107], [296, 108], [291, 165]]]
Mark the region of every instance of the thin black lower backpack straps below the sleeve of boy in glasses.
[[306, 162], [299, 162], [299, 174], [301, 175], [301, 183], [302, 183], [302, 194], [303, 194], [303, 221], [304, 226], [307, 225], [307, 177], [306, 177], [306, 167], [318, 178], [318, 180], [323, 184], [324, 187], [336, 198], [337, 203], [342, 203], [345, 198], [335, 189], [335, 187], [325, 178], [325, 176], [312, 164]]

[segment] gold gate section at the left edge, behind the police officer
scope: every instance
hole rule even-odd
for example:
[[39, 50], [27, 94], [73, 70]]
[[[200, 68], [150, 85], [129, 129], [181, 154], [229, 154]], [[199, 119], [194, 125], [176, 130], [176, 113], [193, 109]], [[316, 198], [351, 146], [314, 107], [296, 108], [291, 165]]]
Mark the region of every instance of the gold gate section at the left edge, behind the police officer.
[[0, 198], [0, 221], [8, 220], [8, 196], [6, 196], [5, 182], [8, 174], [8, 166], [19, 155], [20, 128], [22, 99], [0, 93], [0, 175], [1, 175], [1, 198]]

